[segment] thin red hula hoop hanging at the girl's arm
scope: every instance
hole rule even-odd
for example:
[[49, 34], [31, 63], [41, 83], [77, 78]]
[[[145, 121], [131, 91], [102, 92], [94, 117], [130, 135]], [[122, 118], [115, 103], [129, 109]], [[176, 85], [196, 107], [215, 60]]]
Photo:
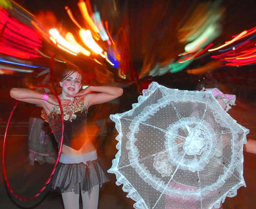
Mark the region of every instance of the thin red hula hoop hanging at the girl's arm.
[[10, 187], [10, 184], [9, 184], [9, 181], [8, 181], [8, 178], [7, 178], [7, 175], [6, 175], [6, 169], [5, 169], [5, 139], [6, 139], [6, 135], [7, 135], [7, 131], [8, 131], [8, 127], [9, 127], [9, 123], [10, 123], [10, 119], [11, 117], [13, 116], [13, 112], [14, 110], [16, 109], [16, 107], [18, 106], [18, 104], [20, 102], [17, 102], [13, 109], [11, 110], [10, 112], [10, 116], [9, 116], [9, 119], [8, 119], [8, 122], [7, 122], [7, 125], [6, 125], [6, 129], [5, 129], [5, 135], [4, 135], [4, 140], [3, 140], [3, 159], [2, 159], [2, 165], [3, 165], [3, 175], [4, 175], [4, 178], [5, 178], [5, 183], [6, 183], [6, 186], [8, 187], [9, 191], [11, 194], [13, 194], [14, 197], [16, 197], [17, 199], [19, 200], [22, 200], [22, 201], [28, 201], [28, 200], [31, 200], [31, 199], [34, 199], [36, 198], [37, 196], [39, 196], [39, 194], [42, 193], [42, 191], [44, 191], [44, 189], [46, 188], [46, 186], [49, 184], [51, 178], [52, 178], [52, 175], [53, 173], [55, 172], [56, 170], [56, 167], [57, 167], [57, 164], [60, 160], [60, 154], [61, 154], [61, 151], [62, 151], [62, 144], [63, 144], [63, 133], [64, 133], [64, 117], [63, 117], [63, 110], [62, 110], [62, 105], [60, 103], [60, 98], [58, 97], [58, 95], [56, 94], [55, 91], [53, 91], [52, 89], [50, 89], [49, 87], [46, 87], [46, 86], [38, 86], [38, 87], [43, 87], [43, 88], [47, 88], [49, 89], [50, 91], [52, 91], [52, 93], [54, 94], [54, 96], [56, 97], [56, 99], [58, 100], [58, 103], [60, 105], [60, 113], [61, 113], [61, 124], [62, 124], [62, 128], [61, 128], [61, 140], [60, 140], [60, 149], [59, 149], [59, 152], [58, 152], [58, 156], [57, 156], [57, 159], [56, 159], [56, 162], [54, 164], [54, 168], [52, 169], [52, 172], [50, 173], [50, 176], [48, 177], [47, 181], [44, 183], [44, 186], [42, 186], [42, 188], [36, 193], [34, 194], [33, 196], [29, 197], [29, 198], [22, 198], [20, 196], [18, 196], [14, 191], [13, 189]]

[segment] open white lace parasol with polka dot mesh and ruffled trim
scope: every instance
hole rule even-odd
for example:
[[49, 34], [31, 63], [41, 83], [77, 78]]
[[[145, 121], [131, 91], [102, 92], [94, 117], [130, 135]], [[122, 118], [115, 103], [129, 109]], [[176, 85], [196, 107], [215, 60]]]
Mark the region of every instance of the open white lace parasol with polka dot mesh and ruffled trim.
[[168, 89], [156, 82], [132, 110], [110, 116], [118, 153], [109, 173], [137, 209], [218, 208], [243, 179], [248, 129], [211, 92]]

